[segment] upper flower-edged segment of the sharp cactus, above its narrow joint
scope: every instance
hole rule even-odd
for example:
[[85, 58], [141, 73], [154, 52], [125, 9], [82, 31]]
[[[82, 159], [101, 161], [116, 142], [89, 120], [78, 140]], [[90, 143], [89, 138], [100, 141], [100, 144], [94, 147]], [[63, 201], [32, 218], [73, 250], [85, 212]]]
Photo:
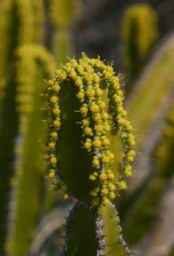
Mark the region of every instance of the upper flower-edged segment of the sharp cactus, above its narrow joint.
[[[87, 60], [87, 61], [86, 61]], [[114, 174], [112, 174], [111, 169], [112, 163], [114, 162], [114, 155], [108, 150], [108, 146], [102, 146], [104, 143], [109, 143], [107, 137], [103, 137], [104, 134], [108, 134], [110, 132], [110, 125], [108, 122], [109, 114], [112, 114], [109, 110], [109, 114], [105, 112], [106, 105], [105, 102], [102, 100], [103, 98], [101, 95], [105, 95], [105, 92], [108, 93], [108, 86], [110, 86], [110, 90], [112, 90], [112, 94], [108, 94], [108, 97], [110, 98], [111, 102], [114, 102], [112, 107], [115, 108], [113, 113], [113, 119], [112, 120], [112, 126], [117, 126], [120, 128], [122, 137], [125, 138], [124, 141], [124, 164], [123, 167], [123, 174], [127, 176], [127, 167], [129, 168], [129, 162], [131, 163], [134, 159], [134, 149], [131, 149], [129, 146], [130, 140], [131, 142], [134, 142], [134, 138], [132, 137], [131, 130], [132, 126], [129, 124], [129, 121], [127, 121], [127, 112], [125, 112], [122, 108], [122, 98], [123, 93], [120, 90], [119, 85], [119, 78], [112, 76], [113, 69], [111, 66], [105, 66], [99, 59], [88, 59], [85, 55], [83, 55], [83, 58], [79, 60], [80, 64], [78, 64], [75, 60], [71, 60], [70, 63], [67, 63], [62, 70], [57, 70], [56, 75], [53, 81], [50, 81], [50, 87], [47, 90], [47, 97], [50, 98], [50, 103], [48, 104], [48, 122], [50, 122], [51, 132], [49, 140], [50, 142], [47, 142], [47, 164], [50, 166], [49, 170], [49, 176], [54, 174], [55, 172], [59, 177], [54, 176], [51, 178], [53, 181], [53, 186], [55, 187], [62, 187], [62, 181], [66, 182], [66, 184], [69, 186], [70, 190], [77, 196], [77, 198], [83, 198], [83, 201], [88, 203], [89, 191], [91, 186], [93, 186], [91, 180], [95, 181], [95, 179], [99, 178], [99, 181], [103, 183], [107, 180], [107, 176], [105, 174], [105, 171], [103, 169], [106, 169], [108, 171], [108, 177], [109, 179], [114, 179]], [[87, 63], [86, 63], [87, 62]], [[91, 63], [89, 65], [88, 63]], [[75, 69], [72, 68], [71, 71], [71, 65], [75, 65]], [[84, 73], [84, 77], [86, 80], [87, 85], [83, 85], [83, 75], [81, 75], [81, 70], [83, 74], [83, 65], [86, 68], [86, 70], [91, 70], [91, 73]], [[100, 65], [101, 68], [98, 68], [98, 65]], [[100, 69], [98, 73], [93, 73], [94, 68]], [[68, 72], [67, 72], [68, 70]], [[66, 74], [67, 72], [67, 74]], [[79, 73], [79, 76], [77, 73]], [[73, 77], [77, 80], [75, 80]], [[104, 80], [108, 81], [106, 82], [104, 90], [100, 88], [100, 84], [98, 85], [98, 82], [100, 82], [100, 76], [103, 77]], [[72, 79], [73, 78], [73, 79]], [[73, 82], [71, 85], [71, 82], [69, 83], [69, 79]], [[97, 80], [96, 85], [91, 85], [91, 79]], [[64, 84], [60, 86], [59, 80], [63, 80]], [[90, 80], [88, 85], [88, 80]], [[57, 82], [58, 81], [58, 82]], [[62, 81], [61, 81], [62, 82]], [[79, 82], [80, 82], [80, 88], [79, 88]], [[84, 87], [83, 87], [84, 86]], [[53, 89], [52, 89], [53, 88]], [[55, 88], [55, 89], [54, 89]], [[61, 90], [60, 90], [61, 89]], [[54, 94], [52, 90], [58, 90], [60, 91], [60, 95]], [[96, 92], [95, 92], [96, 90]], [[104, 92], [103, 92], [104, 91]], [[65, 92], [65, 95], [64, 95]], [[75, 92], [75, 94], [74, 94]], [[86, 96], [85, 96], [86, 92]], [[92, 95], [91, 95], [92, 93]], [[96, 94], [95, 94], [96, 93]], [[74, 95], [72, 95], [74, 94]], [[71, 95], [71, 96], [69, 96]], [[95, 97], [93, 96], [95, 95]], [[86, 102], [90, 102], [89, 110], [88, 110], [88, 104], [82, 103], [84, 102], [83, 97], [86, 97]], [[69, 100], [69, 104], [67, 104], [67, 100]], [[59, 106], [57, 107], [57, 101], [59, 101]], [[98, 102], [97, 105], [96, 102]], [[73, 107], [71, 107], [73, 106]], [[112, 107], [110, 109], [112, 110]], [[61, 122], [60, 120], [60, 110], [62, 110], [61, 114]], [[69, 114], [70, 113], [70, 114]], [[102, 115], [101, 115], [101, 114]], [[82, 118], [86, 117], [85, 119], [81, 120]], [[91, 119], [92, 117], [92, 119]], [[50, 119], [49, 119], [50, 118]], [[99, 123], [98, 123], [99, 118]], [[100, 119], [102, 118], [102, 119]], [[84, 124], [83, 124], [84, 122]], [[83, 124], [81, 127], [79, 124]], [[60, 134], [60, 139], [58, 139], [57, 147], [56, 143], [54, 142], [54, 138], [52, 137], [52, 133], [58, 131], [60, 129], [60, 126], [62, 125], [63, 131], [65, 129], [65, 132], [62, 132]], [[91, 125], [91, 126], [89, 126]], [[71, 129], [69, 130], [69, 127]], [[82, 129], [81, 129], [82, 128]], [[116, 128], [116, 127], [115, 127]], [[79, 137], [79, 132], [82, 135]], [[111, 131], [112, 133], [112, 131]], [[89, 139], [93, 138], [94, 135], [94, 142]], [[81, 145], [81, 139], [84, 141]], [[100, 139], [102, 141], [100, 141]], [[105, 139], [105, 142], [104, 142]], [[98, 142], [99, 141], [99, 142]], [[91, 151], [92, 142], [94, 145], [94, 151]], [[67, 147], [67, 144], [69, 144], [69, 147]], [[84, 146], [83, 146], [84, 144]], [[74, 151], [74, 146], [76, 145], [76, 151]], [[99, 146], [98, 146], [99, 145]], [[101, 152], [99, 151], [101, 150]], [[57, 159], [55, 155], [55, 149], [59, 152], [57, 154]], [[61, 150], [60, 150], [61, 149]], [[86, 150], [92, 154], [86, 154]], [[101, 157], [101, 163], [100, 163], [100, 157]], [[64, 159], [67, 159], [67, 161], [64, 161]], [[92, 161], [91, 161], [92, 159]], [[57, 161], [58, 160], [58, 161]], [[57, 165], [56, 162], [58, 162], [58, 172], [57, 172]], [[92, 166], [91, 166], [92, 162]], [[83, 163], [86, 163], [85, 165]], [[103, 164], [102, 164], [103, 163]], [[101, 164], [101, 167], [100, 167]], [[114, 166], [115, 164], [113, 164]], [[108, 166], [110, 166], [110, 169], [108, 169]], [[91, 172], [91, 167], [93, 170], [93, 173]], [[100, 169], [101, 168], [101, 169]], [[131, 168], [131, 167], [130, 167]], [[96, 169], [96, 171], [95, 171]], [[83, 170], [83, 171], [81, 171]], [[101, 171], [101, 173], [100, 173]], [[129, 170], [131, 174], [131, 169]], [[90, 176], [89, 176], [90, 174]], [[100, 175], [101, 174], [101, 175]], [[99, 177], [97, 178], [97, 176]], [[89, 176], [89, 180], [88, 180]], [[94, 179], [93, 179], [94, 178]], [[121, 179], [121, 181], [120, 181]], [[73, 180], [73, 182], [71, 182]], [[110, 186], [114, 189], [114, 185], [110, 183], [110, 181], [106, 182], [108, 183], [108, 186]], [[83, 184], [86, 184], [84, 186]], [[89, 186], [89, 187], [88, 187]], [[115, 183], [116, 190], [120, 191], [121, 189], [126, 189], [127, 185], [122, 178], [122, 175]], [[102, 188], [99, 188], [99, 191], [105, 187], [103, 184]], [[98, 189], [98, 188], [97, 188]], [[98, 191], [98, 192], [99, 192]], [[104, 189], [104, 191], [106, 191]], [[104, 192], [103, 191], [103, 192]], [[101, 193], [103, 193], [101, 192]], [[108, 192], [108, 190], [107, 190]], [[91, 191], [91, 193], [94, 193]], [[109, 193], [110, 196], [113, 195], [113, 193]], [[114, 195], [113, 195], [114, 196]], [[108, 202], [108, 198], [103, 196], [103, 201]], [[99, 200], [99, 197], [98, 199]]]

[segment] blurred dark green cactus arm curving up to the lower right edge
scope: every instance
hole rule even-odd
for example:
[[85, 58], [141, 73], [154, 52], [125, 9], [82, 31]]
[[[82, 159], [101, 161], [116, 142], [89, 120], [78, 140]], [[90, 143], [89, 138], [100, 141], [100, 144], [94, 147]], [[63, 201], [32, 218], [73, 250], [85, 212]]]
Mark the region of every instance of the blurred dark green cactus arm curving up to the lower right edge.
[[[170, 176], [173, 174], [173, 106], [172, 104], [169, 107], [161, 138], [153, 150], [155, 173], [149, 180], [145, 190], [139, 195], [132, 210], [127, 213], [127, 220], [124, 223], [124, 235], [131, 244], [139, 242], [151, 230], [153, 220], [158, 213], [161, 197]], [[132, 233], [132, 228], [134, 228], [134, 233]]]

